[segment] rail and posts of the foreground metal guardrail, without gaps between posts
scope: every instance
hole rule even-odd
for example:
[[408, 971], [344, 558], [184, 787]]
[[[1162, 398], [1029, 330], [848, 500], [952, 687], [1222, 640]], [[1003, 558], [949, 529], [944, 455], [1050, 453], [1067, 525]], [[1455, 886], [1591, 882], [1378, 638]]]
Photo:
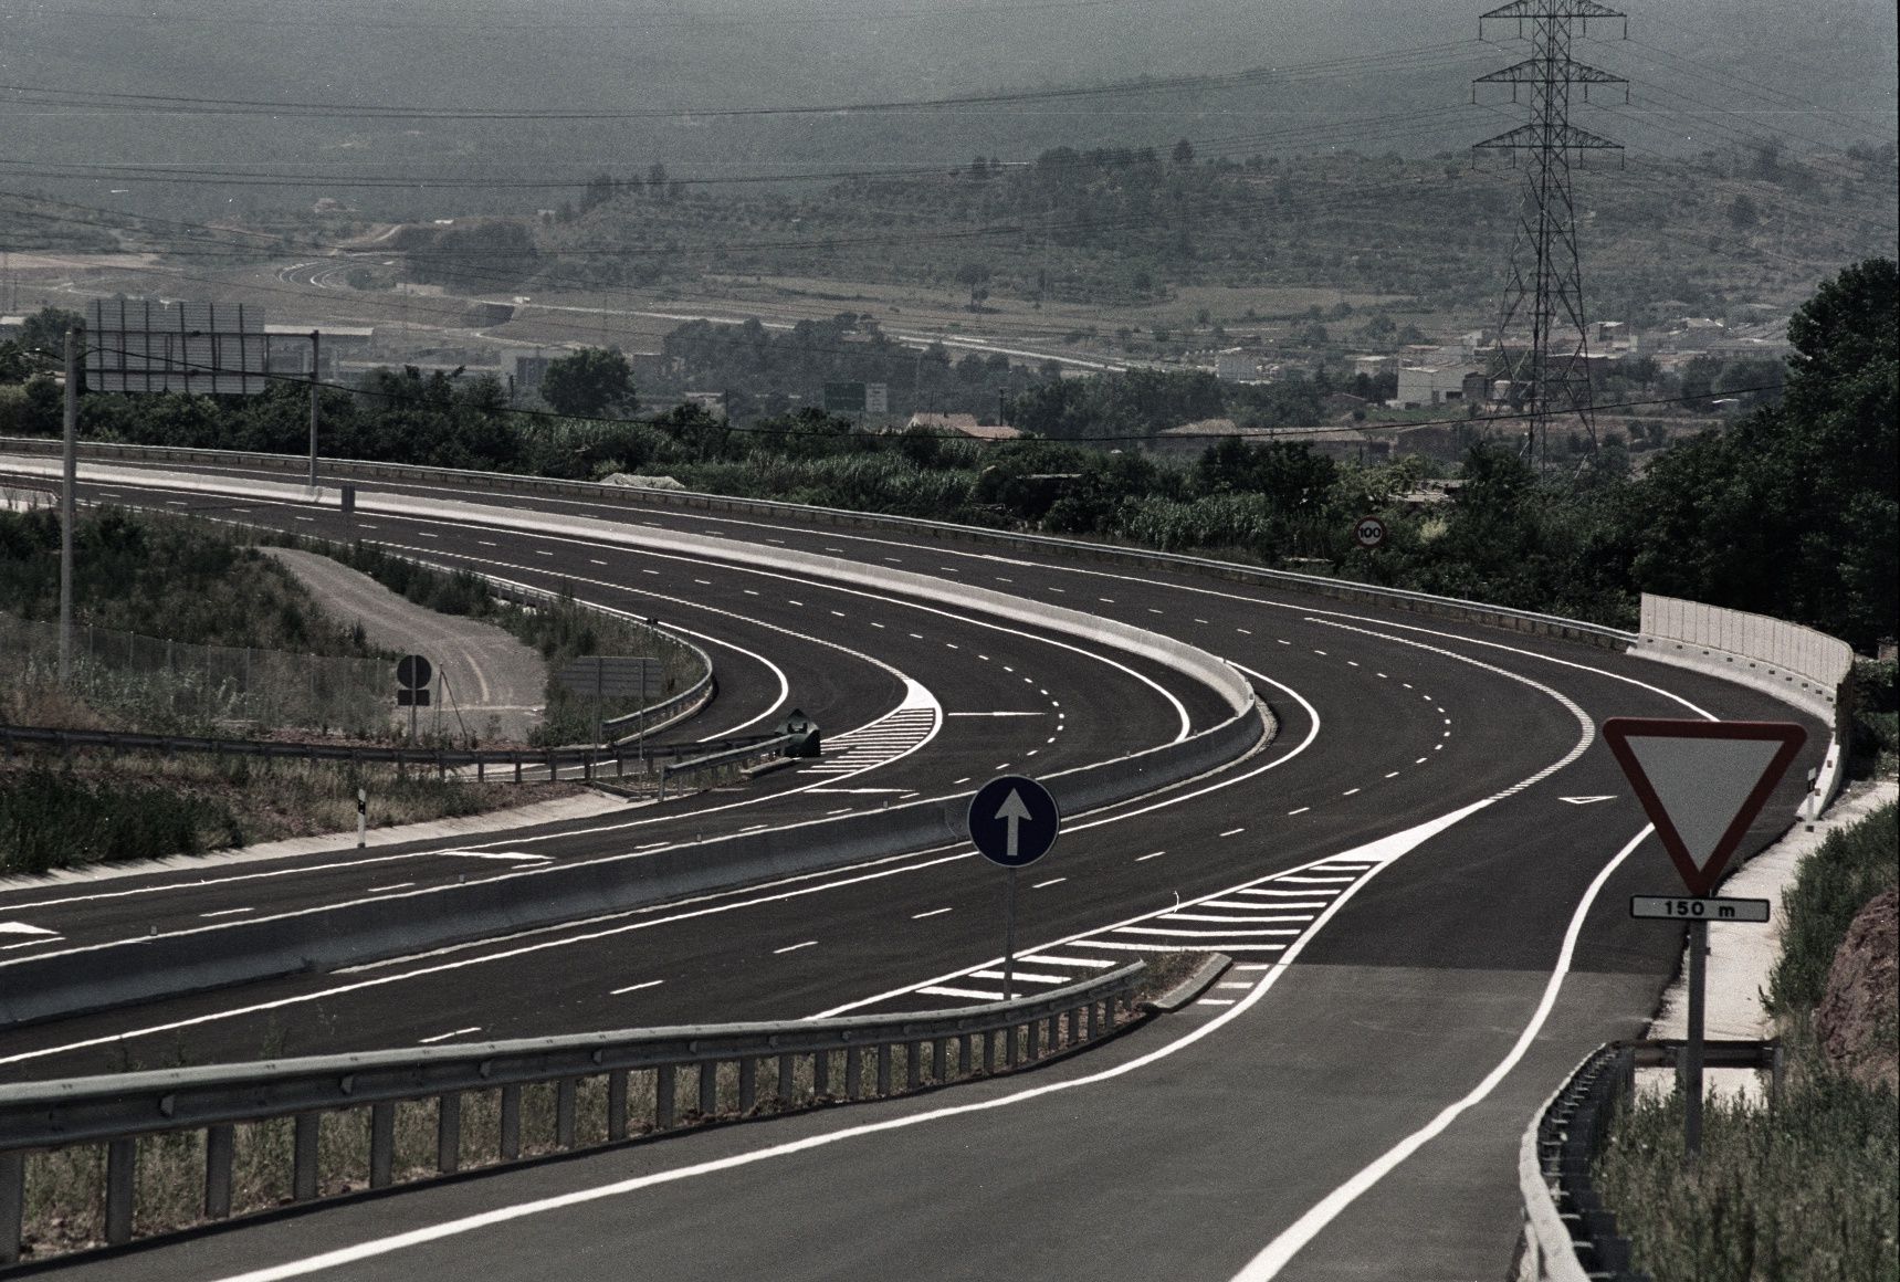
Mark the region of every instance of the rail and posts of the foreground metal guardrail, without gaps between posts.
[[[104, 1240], [116, 1246], [131, 1240], [137, 1223], [141, 1141], [160, 1136], [203, 1132], [201, 1159], [194, 1159], [201, 1160], [201, 1214], [226, 1219], [234, 1212], [234, 1132], [239, 1124], [294, 1119], [291, 1198], [310, 1202], [321, 1189], [321, 1136], [325, 1128], [334, 1136], [348, 1113], [369, 1111], [363, 1128], [369, 1187], [386, 1189], [403, 1174], [395, 1166], [395, 1138], [397, 1109], [405, 1103], [433, 1103], [433, 1174], [446, 1176], [462, 1166], [464, 1098], [475, 1092], [484, 1105], [486, 1092], [498, 1094], [494, 1153], [500, 1162], [521, 1159], [522, 1090], [534, 1086], [555, 1090], [555, 1149], [593, 1147], [580, 1140], [578, 1113], [581, 1086], [595, 1079], [606, 1084], [606, 1143], [635, 1134], [633, 1073], [650, 1075], [640, 1083], [642, 1096], [644, 1086], [652, 1086], [652, 1121], [644, 1126], [650, 1132], [728, 1113], [745, 1117], [766, 1105], [794, 1109], [859, 1100], [866, 1094], [866, 1062], [872, 1094], [891, 1096], [899, 1071], [902, 1088], [916, 1090], [998, 1067], [1032, 1065], [1100, 1041], [1113, 1033], [1117, 1009], [1134, 1012], [1144, 969], [1136, 961], [1037, 997], [942, 1014], [581, 1033], [0, 1086], [0, 1265], [19, 1263], [23, 1254], [27, 1159], [32, 1153], [104, 1145]], [[840, 1056], [842, 1083], [834, 1077]], [[768, 1062], [773, 1075], [762, 1073]], [[680, 1069], [692, 1069], [697, 1079], [697, 1107], [686, 1115], [678, 1107]]]

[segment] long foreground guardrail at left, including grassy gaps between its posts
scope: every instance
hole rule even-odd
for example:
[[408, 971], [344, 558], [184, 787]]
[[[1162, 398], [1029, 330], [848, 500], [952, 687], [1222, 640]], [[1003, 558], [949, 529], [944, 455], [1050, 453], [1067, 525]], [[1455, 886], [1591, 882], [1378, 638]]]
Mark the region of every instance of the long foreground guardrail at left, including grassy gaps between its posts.
[[338, 1189], [386, 1189], [1028, 1067], [1138, 1018], [1144, 971], [1136, 961], [1037, 997], [939, 1014], [583, 1033], [0, 1086], [0, 1265], [40, 1259], [46, 1246], [120, 1246], [137, 1233]]

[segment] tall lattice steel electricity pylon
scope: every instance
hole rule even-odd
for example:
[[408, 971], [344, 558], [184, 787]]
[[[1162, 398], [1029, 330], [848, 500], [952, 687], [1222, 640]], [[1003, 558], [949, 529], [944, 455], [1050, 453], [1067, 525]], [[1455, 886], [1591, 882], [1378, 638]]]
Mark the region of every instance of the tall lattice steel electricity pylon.
[[[1512, 165], [1518, 152], [1528, 156], [1524, 199], [1510, 243], [1510, 279], [1497, 325], [1497, 357], [1501, 376], [1510, 384], [1505, 399], [1530, 420], [1526, 446], [1537, 463], [1548, 463], [1552, 418], [1575, 416], [1588, 433], [1590, 448], [1596, 448], [1569, 171], [1573, 161], [1583, 163], [1585, 152], [1621, 152], [1623, 146], [1571, 125], [1569, 97], [1571, 85], [1583, 85], [1585, 101], [1590, 85], [1624, 85], [1628, 99], [1628, 82], [1569, 57], [1571, 23], [1588, 32], [1590, 19], [1621, 19], [1628, 36], [1628, 19], [1596, 0], [1516, 0], [1478, 19], [1480, 40], [1488, 23], [1516, 21], [1518, 40], [1531, 46], [1522, 63], [1478, 76], [1471, 97], [1476, 103], [1478, 85], [1497, 84], [1510, 85], [1512, 103], [1520, 101], [1520, 87], [1530, 91], [1530, 123], [1486, 139], [1472, 150], [1509, 152]], [[1528, 344], [1522, 332], [1526, 319]]]

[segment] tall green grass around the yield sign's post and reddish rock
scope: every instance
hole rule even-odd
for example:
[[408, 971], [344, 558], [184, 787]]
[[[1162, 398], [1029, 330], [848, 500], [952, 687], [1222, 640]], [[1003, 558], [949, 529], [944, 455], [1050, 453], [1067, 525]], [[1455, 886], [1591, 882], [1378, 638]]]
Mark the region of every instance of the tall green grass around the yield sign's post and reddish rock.
[[[1811, 1020], [1852, 917], [1900, 874], [1887, 805], [1830, 834], [1782, 898], [1784, 953], [1769, 1007], [1788, 1077], [1765, 1107], [1716, 1098], [1702, 1155], [1685, 1168], [1683, 1098], [1645, 1096], [1617, 1119], [1598, 1189], [1657, 1282], [1834, 1282], [1900, 1276], [1900, 1109], [1885, 1079], [1828, 1060]], [[1873, 1029], [1894, 1054], [1889, 1018]]]

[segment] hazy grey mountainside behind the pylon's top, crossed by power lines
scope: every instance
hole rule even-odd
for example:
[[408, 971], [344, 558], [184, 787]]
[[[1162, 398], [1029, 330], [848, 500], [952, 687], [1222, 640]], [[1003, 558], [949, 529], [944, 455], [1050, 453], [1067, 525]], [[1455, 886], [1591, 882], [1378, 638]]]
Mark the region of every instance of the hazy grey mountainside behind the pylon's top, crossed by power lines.
[[[1184, 137], [1203, 158], [1235, 160], [1463, 152], [1510, 118], [1509, 106], [1467, 104], [1467, 82], [1516, 55], [1509, 42], [1474, 40], [1484, 8], [207, 0], [141, 11], [59, 0], [8, 13], [0, 190], [160, 217], [308, 209], [323, 196], [437, 217], [557, 207], [595, 169], [656, 161], [724, 182], [946, 167], [977, 154], [1024, 161], [1053, 146], [1167, 148]], [[1638, 150], [1892, 137], [1887, 0], [1672, 0], [1632, 6], [1628, 44], [1621, 25], [1590, 34], [1577, 55], [1636, 82], [1630, 108], [1596, 95], [1592, 127]], [[1142, 78], [1167, 87], [1070, 93]], [[960, 108], [768, 110], [998, 93], [1005, 99]], [[207, 114], [205, 99], [256, 106]], [[462, 116], [361, 110], [390, 106]], [[361, 186], [370, 179], [386, 186]]]

